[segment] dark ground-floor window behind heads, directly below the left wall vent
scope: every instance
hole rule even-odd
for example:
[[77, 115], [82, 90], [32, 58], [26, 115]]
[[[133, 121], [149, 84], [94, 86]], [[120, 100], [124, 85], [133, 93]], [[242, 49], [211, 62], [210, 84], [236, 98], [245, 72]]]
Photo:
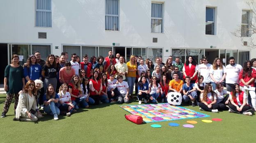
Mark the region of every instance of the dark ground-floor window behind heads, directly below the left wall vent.
[[46, 60], [47, 56], [50, 54], [50, 45], [32, 45], [32, 54], [34, 54], [35, 51], [39, 51], [41, 58]]

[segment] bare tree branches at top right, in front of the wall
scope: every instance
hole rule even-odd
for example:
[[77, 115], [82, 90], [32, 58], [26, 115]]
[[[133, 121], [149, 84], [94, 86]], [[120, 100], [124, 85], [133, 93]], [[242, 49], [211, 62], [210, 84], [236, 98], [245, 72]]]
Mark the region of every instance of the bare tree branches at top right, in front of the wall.
[[241, 42], [243, 46], [247, 46], [248, 48], [256, 48], [256, 42], [254, 40], [254, 34], [256, 34], [256, 25], [252, 21], [256, 20], [256, 1], [251, 0], [250, 2], [246, 2], [250, 11], [243, 11], [242, 13], [242, 24], [238, 26], [234, 32], [231, 32], [234, 36], [241, 38]]

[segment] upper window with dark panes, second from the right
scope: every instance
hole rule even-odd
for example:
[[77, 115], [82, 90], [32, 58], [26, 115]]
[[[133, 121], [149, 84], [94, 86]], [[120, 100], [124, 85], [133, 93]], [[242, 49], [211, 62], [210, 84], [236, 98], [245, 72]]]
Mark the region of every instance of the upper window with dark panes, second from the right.
[[215, 35], [215, 8], [206, 7], [206, 35]]

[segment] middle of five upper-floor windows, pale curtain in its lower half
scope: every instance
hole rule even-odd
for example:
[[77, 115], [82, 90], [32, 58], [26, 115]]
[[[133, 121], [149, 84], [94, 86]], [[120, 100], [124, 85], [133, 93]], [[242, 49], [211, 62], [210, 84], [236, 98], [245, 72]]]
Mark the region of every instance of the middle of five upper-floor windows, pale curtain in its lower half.
[[162, 3], [151, 3], [151, 32], [163, 33]]

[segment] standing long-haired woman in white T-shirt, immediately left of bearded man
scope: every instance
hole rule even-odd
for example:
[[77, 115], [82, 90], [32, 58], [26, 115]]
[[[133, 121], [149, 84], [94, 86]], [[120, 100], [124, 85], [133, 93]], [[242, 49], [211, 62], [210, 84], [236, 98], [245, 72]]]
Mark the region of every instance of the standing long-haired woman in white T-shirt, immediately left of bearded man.
[[210, 67], [210, 77], [213, 90], [216, 89], [217, 83], [223, 83], [226, 77], [226, 68], [222, 65], [220, 58], [214, 59], [213, 65]]

